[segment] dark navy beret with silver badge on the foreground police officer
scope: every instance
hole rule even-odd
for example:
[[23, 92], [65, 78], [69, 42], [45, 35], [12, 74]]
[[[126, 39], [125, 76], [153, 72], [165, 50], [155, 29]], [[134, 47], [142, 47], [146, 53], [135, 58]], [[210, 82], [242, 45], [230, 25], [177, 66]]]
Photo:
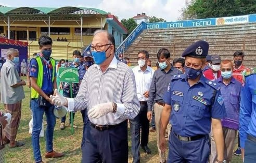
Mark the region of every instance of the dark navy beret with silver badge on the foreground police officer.
[[208, 55], [208, 50], [209, 43], [200, 40], [187, 47], [182, 53], [182, 57], [190, 56], [194, 58], [205, 58]]

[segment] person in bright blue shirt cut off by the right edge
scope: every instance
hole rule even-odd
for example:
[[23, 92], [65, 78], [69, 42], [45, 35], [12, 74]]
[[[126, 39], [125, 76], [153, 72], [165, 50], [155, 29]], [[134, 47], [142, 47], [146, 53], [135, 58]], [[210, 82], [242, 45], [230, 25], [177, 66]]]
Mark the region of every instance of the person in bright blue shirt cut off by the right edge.
[[241, 91], [239, 134], [245, 163], [256, 160], [256, 68], [245, 72]]

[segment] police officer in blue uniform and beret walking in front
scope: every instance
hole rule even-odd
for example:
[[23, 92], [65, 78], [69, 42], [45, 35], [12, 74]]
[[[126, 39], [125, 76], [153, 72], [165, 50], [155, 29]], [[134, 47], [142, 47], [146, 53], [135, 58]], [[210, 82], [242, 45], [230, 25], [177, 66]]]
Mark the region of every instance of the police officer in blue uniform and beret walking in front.
[[169, 121], [172, 124], [168, 162], [208, 162], [211, 125], [216, 142], [216, 162], [226, 162], [221, 125], [226, 112], [220, 86], [202, 75], [208, 50], [208, 42], [200, 40], [183, 52], [185, 74], [173, 76], [163, 96], [165, 106], [160, 122], [163, 151], [166, 150], [165, 128]]

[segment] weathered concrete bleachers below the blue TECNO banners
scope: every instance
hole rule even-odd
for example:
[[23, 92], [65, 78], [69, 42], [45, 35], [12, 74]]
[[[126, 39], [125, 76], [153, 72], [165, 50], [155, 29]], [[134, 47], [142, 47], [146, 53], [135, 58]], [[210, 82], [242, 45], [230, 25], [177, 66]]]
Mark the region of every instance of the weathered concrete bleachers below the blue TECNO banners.
[[132, 65], [137, 65], [137, 52], [145, 49], [150, 54], [152, 66], [156, 65], [157, 52], [168, 48], [171, 58], [181, 57], [191, 43], [206, 40], [210, 44], [209, 54], [219, 54], [222, 60], [233, 59], [237, 50], [245, 51], [245, 65], [256, 67], [256, 23], [190, 27], [175, 29], [145, 29], [124, 52]]

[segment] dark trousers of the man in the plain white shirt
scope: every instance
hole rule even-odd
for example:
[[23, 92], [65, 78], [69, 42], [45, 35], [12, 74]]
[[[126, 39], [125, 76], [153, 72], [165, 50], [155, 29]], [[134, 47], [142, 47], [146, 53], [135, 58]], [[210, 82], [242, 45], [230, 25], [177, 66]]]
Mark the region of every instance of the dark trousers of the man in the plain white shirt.
[[142, 127], [142, 141], [141, 145], [148, 145], [148, 135], [149, 135], [149, 121], [147, 118], [147, 104], [140, 104], [139, 114], [133, 119], [129, 120], [131, 127], [131, 136], [132, 136], [132, 154], [133, 162], [140, 161], [139, 154], [139, 141], [140, 141], [140, 126]]

